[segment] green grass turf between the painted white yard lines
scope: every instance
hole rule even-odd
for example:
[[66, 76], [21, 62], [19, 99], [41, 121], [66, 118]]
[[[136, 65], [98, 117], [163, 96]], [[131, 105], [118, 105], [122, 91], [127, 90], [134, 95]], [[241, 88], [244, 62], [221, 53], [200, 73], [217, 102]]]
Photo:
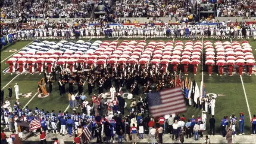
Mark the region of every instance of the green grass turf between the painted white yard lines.
[[[122, 42], [123, 40], [126, 40], [128, 38], [120, 38], [119, 42]], [[136, 38], [137, 40], [144, 40], [145, 38]], [[168, 41], [168, 40], [172, 40], [173, 38], [167, 39], [167, 38], [155, 38], [155, 39], [150, 39], [147, 38], [146, 42], [150, 42], [151, 40], [163, 40], [163, 41]], [[84, 41], [88, 40], [88, 39], [83, 39]], [[91, 42], [94, 42], [97, 39], [91, 39]], [[110, 38], [110, 39], [100, 39], [100, 40], [109, 40], [109, 41], [113, 41], [116, 40], [116, 38]], [[129, 40], [129, 39], [128, 39]], [[176, 40], [182, 40], [183, 42], [186, 42], [187, 40], [191, 40], [191, 39], [175, 39]], [[198, 39], [201, 41], [201, 39]], [[216, 39], [203, 39], [203, 41], [205, 40], [211, 40], [212, 42], [216, 41]], [[233, 41], [236, 39], [232, 39]], [[50, 40], [49, 40], [50, 41]], [[230, 39], [226, 39], [226, 40], [222, 40], [224, 41], [230, 41]], [[238, 40], [241, 41], [241, 40]], [[6, 50], [10, 50], [10, 49], [17, 49], [19, 50], [20, 48], [24, 47], [25, 45], [27, 45], [29, 43], [29, 41], [23, 41], [23, 42], [16, 42], [16, 44], [9, 46], [8, 48], [4, 49], [4, 51]], [[254, 40], [250, 40], [250, 45], [252, 46], [253, 49], [253, 53], [254, 56], [256, 56], [256, 52], [255, 52], [255, 48], [256, 48], [256, 41]], [[10, 54], [10, 52], [3, 52], [1, 51], [1, 60], [5, 59], [6, 57], [8, 57]], [[4, 69], [6, 69], [8, 67], [8, 65], [1, 63], [1, 71], [3, 71]], [[192, 69], [191, 69], [192, 70]], [[239, 75], [234, 75], [232, 77], [226, 75], [226, 76], [217, 76], [216, 72], [212, 73], [212, 76], [209, 76], [207, 74], [207, 68], [204, 67], [204, 74], [203, 75], [203, 79], [204, 79], [204, 83], [206, 85], [206, 93], [216, 93], [216, 94], [224, 94], [225, 96], [219, 96], [216, 99], [216, 106], [215, 106], [215, 118], [216, 118], [216, 131], [220, 134], [220, 120], [222, 119], [223, 116], [227, 115], [228, 117], [231, 115], [232, 112], [234, 112], [237, 117], [240, 111], [244, 112], [245, 114], [245, 132], [246, 134], [250, 134], [250, 123], [249, 123], [249, 114], [248, 114], [248, 109], [247, 109], [247, 104], [245, 102], [245, 97], [244, 97], [244, 91], [243, 91], [243, 87], [242, 87], [242, 83], [240, 81], [240, 76]], [[199, 65], [197, 68], [197, 75], [194, 76], [192, 74], [192, 72], [189, 72], [189, 75], [187, 76], [188, 78], [191, 78], [192, 80], [195, 79], [198, 86], [200, 87], [200, 81], [201, 81], [201, 66]], [[1, 84], [2, 87], [4, 85], [6, 85], [13, 77], [15, 77], [16, 74], [10, 75], [10, 74], [6, 74], [3, 75], [3, 73], [1, 73]], [[37, 82], [43, 78], [43, 75], [38, 75], [38, 74], [34, 74], [34, 75], [19, 75], [16, 79], [14, 79], [10, 84], [13, 86], [16, 82], [19, 82], [19, 87], [20, 87], [20, 93], [29, 93], [32, 92], [32, 96], [34, 96], [34, 94], [37, 91]], [[251, 114], [255, 114], [256, 113], [256, 106], [254, 105], [254, 103], [256, 102], [254, 95], [255, 95], [255, 87], [256, 87], [256, 76], [253, 75], [251, 77], [247, 76], [247, 75], [243, 75], [243, 81], [244, 81], [244, 87], [247, 93], [247, 98], [248, 98], [248, 102], [249, 102], [249, 106], [250, 106], [250, 111]], [[48, 86], [47, 86], [48, 87]], [[75, 87], [75, 90], [77, 89], [77, 87]], [[68, 90], [68, 85], [66, 86], [66, 90]], [[106, 90], [104, 90], [105, 92]], [[5, 88], [5, 93], [7, 93], [7, 87]], [[84, 92], [87, 93], [87, 83], [84, 84]], [[95, 89], [94, 93], [97, 93], [98, 90]], [[144, 94], [142, 94], [144, 95]], [[20, 102], [22, 103], [22, 105], [24, 106], [30, 99], [29, 98], [24, 98], [22, 97], [20, 99]], [[13, 97], [15, 97], [13, 95]], [[136, 99], [138, 98], [138, 96], [134, 96]], [[130, 105], [130, 101], [127, 100], [126, 101], [128, 104], [128, 108]], [[29, 108], [34, 109], [35, 106], [38, 106], [38, 108], [44, 108], [47, 111], [51, 111], [52, 109], [55, 109], [56, 111], [58, 110], [62, 110], [64, 111], [66, 109], [66, 107], [68, 106], [69, 102], [67, 99], [67, 94], [62, 97], [59, 96], [59, 90], [58, 90], [58, 85], [55, 84], [53, 85], [53, 93], [46, 97], [46, 98], [38, 98], [37, 96], [31, 100], [31, 102], [28, 104]], [[68, 110], [69, 112], [72, 112], [72, 110]], [[197, 116], [198, 114], [201, 114], [201, 111], [199, 109], [193, 108], [192, 106], [187, 107], [187, 111], [184, 113], [186, 118], [190, 118], [192, 115]], [[210, 115], [207, 114], [207, 118], [209, 120]], [[238, 127], [237, 127], [238, 129]]]

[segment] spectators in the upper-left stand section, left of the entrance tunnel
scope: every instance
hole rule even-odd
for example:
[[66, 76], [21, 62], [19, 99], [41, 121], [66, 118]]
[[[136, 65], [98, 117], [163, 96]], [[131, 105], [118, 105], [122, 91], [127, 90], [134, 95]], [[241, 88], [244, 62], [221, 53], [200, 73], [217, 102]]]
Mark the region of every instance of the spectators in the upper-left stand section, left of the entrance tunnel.
[[[102, 3], [102, 1], [99, 1]], [[86, 18], [91, 16], [92, 0], [3, 0], [1, 18]]]

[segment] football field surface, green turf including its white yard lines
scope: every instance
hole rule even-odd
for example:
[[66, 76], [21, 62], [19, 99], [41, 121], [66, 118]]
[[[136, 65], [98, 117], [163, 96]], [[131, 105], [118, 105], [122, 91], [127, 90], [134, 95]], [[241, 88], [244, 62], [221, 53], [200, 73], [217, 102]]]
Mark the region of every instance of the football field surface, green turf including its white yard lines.
[[[144, 40], [145, 38], [136, 38], [136, 40]], [[101, 39], [82, 39], [84, 41], [90, 40], [91, 42], [94, 42], [96, 40], [109, 40], [114, 41], [117, 40], [117, 38], [101, 38]], [[128, 38], [119, 38], [118, 41], [121, 43], [123, 40], [132, 40]], [[162, 40], [164, 42], [167, 42], [169, 40], [173, 40], [173, 38], [147, 38], [145, 39], [146, 43], [150, 41], [159, 41]], [[177, 40], [181, 40], [183, 43], [185, 43], [187, 40], [191, 39], [174, 39], [174, 42]], [[198, 39], [202, 40], [202, 39]], [[210, 40], [212, 43], [214, 43], [216, 40], [219, 39], [203, 39]], [[241, 39], [225, 39], [221, 40], [222, 42], [225, 41], [234, 41], [237, 40], [241, 42]], [[42, 41], [42, 40], [41, 40]], [[48, 39], [48, 41], [53, 41]], [[59, 41], [59, 40], [54, 40]], [[74, 40], [75, 41], [75, 40]], [[250, 39], [248, 40], [249, 44], [252, 46], [254, 57], [256, 57], [256, 40]], [[6, 69], [9, 67], [9, 64], [6, 64], [6, 60], [8, 60], [10, 57], [12, 57], [13, 54], [16, 54], [20, 49], [24, 48], [27, 45], [30, 45], [32, 40], [28, 41], [20, 41], [15, 42], [13, 45], [9, 45], [6, 48], [3, 48], [1, 51], [1, 87], [3, 87], [5, 97], [8, 96], [8, 87], [11, 85], [14, 86], [15, 83], [19, 83], [19, 93], [22, 93], [22, 96], [20, 96], [19, 101], [21, 102], [21, 105], [23, 107], [28, 106], [28, 108], [31, 108], [34, 110], [34, 108], [37, 106], [39, 109], [43, 109], [45, 111], [69, 111], [68, 108], [69, 101], [68, 101], [68, 95], [59, 96], [59, 89], [57, 81], [53, 84], [53, 93], [51, 93], [49, 96], [40, 98], [38, 97], [37, 93], [37, 86], [38, 81], [41, 80], [41, 78], [44, 78], [44, 75], [39, 73], [34, 73], [34, 75], [31, 74], [17, 74], [13, 73], [13, 75], [10, 75], [10, 73], [6, 72]], [[203, 51], [205, 54], [205, 51]], [[204, 62], [203, 62], [204, 63]], [[203, 68], [203, 69], [202, 69]], [[224, 72], [225, 73], [225, 72]], [[223, 116], [230, 116], [231, 113], [235, 113], [237, 117], [239, 117], [240, 112], [244, 112], [245, 115], [245, 133], [249, 135], [251, 133], [251, 125], [250, 125], [250, 117], [253, 116], [253, 114], [256, 114], [256, 75], [253, 74], [252, 76], [249, 76], [247, 74], [238, 75], [234, 74], [233, 76], [227, 75], [217, 75], [218, 70], [213, 68], [212, 75], [208, 75], [207, 66], [198, 66], [197, 67], [197, 75], [193, 74], [193, 66], [192, 69], [189, 67], [188, 69], [188, 75], [187, 78], [191, 78], [193, 81], [197, 82], [197, 84], [200, 86], [200, 81], [202, 80], [203, 75], [203, 82], [205, 83], [206, 93], [214, 93], [220, 96], [217, 96], [216, 103], [215, 103], [215, 118], [216, 118], [216, 124], [215, 129], [218, 134], [221, 134], [220, 129], [220, 120]], [[48, 85], [47, 85], [48, 88]], [[66, 85], [66, 90], [68, 90], [68, 85]], [[75, 90], [77, 90], [77, 87], [75, 87]], [[140, 89], [142, 90], [142, 89]], [[97, 93], [97, 88], [95, 89], [95, 93]], [[106, 92], [106, 91], [104, 91]], [[76, 92], [75, 92], [76, 93]], [[86, 96], [88, 95], [87, 90], [87, 83], [84, 84], [84, 93]], [[145, 95], [144, 95], [145, 96]], [[135, 96], [137, 99], [139, 96]], [[15, 93], [13, 88], [13, 95], [12, 95], [12, 104], [15, 100]], [[127, 101], [127, 104], [130, 103]], [[129, 106], [128, 106], [129, 108]], [[77, 110], [78, 111], [78, 110]], [[197, 108], [193, 108], [192, 106], [187, 107], [187, 111], [184, 113], [186, 118], [190, 118], [192, 115], [197, 116], [198, 114], [201, 114], [201, 110]], [[210, 114], [207, 114], [207, 123], [209, 122]], [[209, 125], [207, 124], [207, 127]], [[239, 131], [239, 128], [237, 126], [237, 131]]]

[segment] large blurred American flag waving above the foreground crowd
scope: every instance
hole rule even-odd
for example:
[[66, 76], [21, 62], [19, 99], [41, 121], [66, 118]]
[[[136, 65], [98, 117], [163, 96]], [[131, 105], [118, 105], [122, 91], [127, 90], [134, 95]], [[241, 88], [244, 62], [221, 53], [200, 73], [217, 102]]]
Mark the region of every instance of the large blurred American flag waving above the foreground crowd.
[[147, 97], [150, 113], [153, 117], [186, 111], [184, 96], [180, 87], [148, 93]]

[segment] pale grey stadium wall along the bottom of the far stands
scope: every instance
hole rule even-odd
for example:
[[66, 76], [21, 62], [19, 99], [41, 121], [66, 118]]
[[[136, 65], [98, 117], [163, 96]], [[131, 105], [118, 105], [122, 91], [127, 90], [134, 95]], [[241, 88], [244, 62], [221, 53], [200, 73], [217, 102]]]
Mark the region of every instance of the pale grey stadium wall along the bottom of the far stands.
[[[66, 20], [73, 20], [73, 19], [84, 19], [84, 18], [49, 18], [50, 22], [52, 21], [59, 21], [59, 19], [61, 21], [65, 21]], [[85, 19], [90, 19], [90, 18], [85, 18]], [[133, 22], [134, 20], [136, 19], [137, 23], [145, 23], [145, 22], [149, 22], [149, 20], [153, 20], [153, 18], [120, 18], [120, 20], [130, 20], [131, 22]], [[162, 20], [163, 22], [167, 21], [169, 22], [169, 20], [171, 20], [172, 23], [175, 23], [175, 18], [166, 18], [166, 17], [161, 17], [161, 18], [156, 18], [156, 20]], [[251, 18], [248, 18], [248, 19], [243, 19], [243, 17], [215, 17], [215, 21], [219, 20], [220, 22], [222, 21], [228, 21], [228, 20], [231, 20], [231, 21], [255, 21], [256, 17], [251, 17]], [[34, 20], [34, 19], [32, 19]], [[41, 22], [43, 21], [44, 19], [43, 18], [37, 18], [37, 21], [38, 22]], [[11, 22], [12, 19], [2, 19], [2, 21], [4, 23], [8, 23], [8, 22]]]

